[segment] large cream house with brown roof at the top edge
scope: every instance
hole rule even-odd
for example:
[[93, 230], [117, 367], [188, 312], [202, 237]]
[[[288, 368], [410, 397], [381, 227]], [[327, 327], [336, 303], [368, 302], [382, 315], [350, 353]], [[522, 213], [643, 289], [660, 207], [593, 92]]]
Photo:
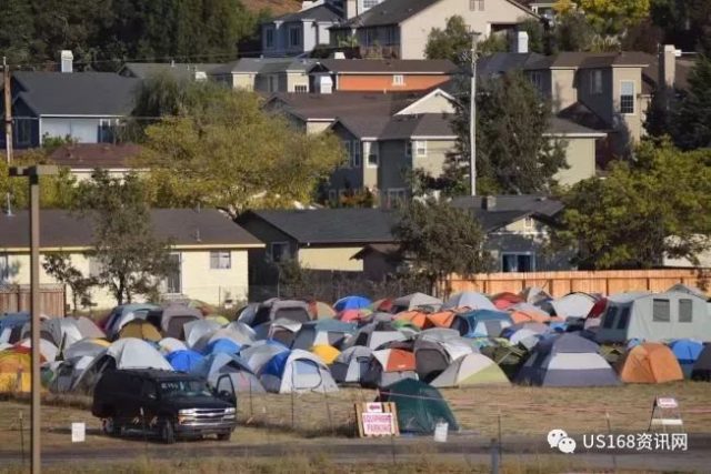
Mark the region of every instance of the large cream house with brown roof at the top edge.
[[361, 56], [372, 52], [384, 58], [424, 59], [430, 31], [443, 30], [453, 16], [462, 17], [482, 38], [539, 19], [513, 0], [384, 0], [331, 27], [331, 46], [356, 42]]

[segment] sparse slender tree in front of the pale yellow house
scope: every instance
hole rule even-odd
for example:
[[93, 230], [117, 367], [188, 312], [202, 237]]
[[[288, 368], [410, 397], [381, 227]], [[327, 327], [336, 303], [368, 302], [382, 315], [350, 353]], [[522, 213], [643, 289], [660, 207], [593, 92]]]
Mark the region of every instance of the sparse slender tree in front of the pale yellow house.
[[81, 183], [76, 212], [91, 219], [92, 250], [100, 268], [97, 284], [108, 289], [117, 304], [157, 292], [173, 269], [170, 241], [153, 235], [143, 183], [136, 174], [123, 180], [96, 171]]

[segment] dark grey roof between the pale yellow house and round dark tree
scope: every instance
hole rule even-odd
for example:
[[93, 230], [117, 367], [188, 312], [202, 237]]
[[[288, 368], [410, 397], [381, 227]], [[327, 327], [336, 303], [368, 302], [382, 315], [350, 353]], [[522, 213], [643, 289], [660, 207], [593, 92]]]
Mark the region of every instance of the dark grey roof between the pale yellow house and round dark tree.
[[388, 243], [398, 214], [380, 209], [316, 209], [306, 211], [250, 211], [238, 219], [261, 219], [299, 243]]

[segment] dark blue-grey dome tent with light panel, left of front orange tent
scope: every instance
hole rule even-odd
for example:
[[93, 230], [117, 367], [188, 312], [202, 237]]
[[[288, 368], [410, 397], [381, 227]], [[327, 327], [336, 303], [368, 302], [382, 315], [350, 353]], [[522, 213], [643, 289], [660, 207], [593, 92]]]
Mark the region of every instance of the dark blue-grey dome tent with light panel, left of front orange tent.
[[541, 340], [514, 381], [542, 386], [607, 386], [620, 382], [600, 346], [574, 333]]

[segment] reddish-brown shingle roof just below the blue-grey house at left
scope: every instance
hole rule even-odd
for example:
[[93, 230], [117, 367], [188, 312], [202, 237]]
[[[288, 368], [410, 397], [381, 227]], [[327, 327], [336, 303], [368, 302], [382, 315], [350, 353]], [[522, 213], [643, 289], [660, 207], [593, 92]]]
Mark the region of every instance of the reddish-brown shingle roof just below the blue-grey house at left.
[[130, 168], [130, 159], [140, 151], [139, 145], [131, 143], [76, 143], [58, 148], [49, 159], [54, 164], [74, 170]]

